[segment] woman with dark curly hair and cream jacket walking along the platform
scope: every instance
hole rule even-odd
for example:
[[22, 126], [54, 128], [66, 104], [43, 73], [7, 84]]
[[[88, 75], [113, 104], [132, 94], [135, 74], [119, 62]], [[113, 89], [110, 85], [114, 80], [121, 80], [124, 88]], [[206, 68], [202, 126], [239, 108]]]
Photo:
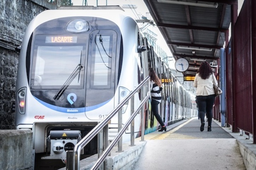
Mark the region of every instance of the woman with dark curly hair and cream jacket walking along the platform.
[[213, 82], [217, 85], [217, 80], [212, 72], [212, 68], [207, 62], [203, 62], [200, 65], [194, 80], [194, 87], [197, 88], [197, 106], [199, 108], [199, 116], [201, 119], [200, 131], [204, 130], [205, 113], [207, 114], [208, 119], [207, 131], [212, 131], [212, 107], [215, 101]]

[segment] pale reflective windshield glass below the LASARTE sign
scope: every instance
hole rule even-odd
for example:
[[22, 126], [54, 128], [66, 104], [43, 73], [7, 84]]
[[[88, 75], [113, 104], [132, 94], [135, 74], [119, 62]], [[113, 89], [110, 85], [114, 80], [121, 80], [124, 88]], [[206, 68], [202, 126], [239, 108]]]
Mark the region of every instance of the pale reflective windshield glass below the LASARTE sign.
[[[38, 46], [33, 58], [31, 88], [59, 89], [81, 62], [81, 51], [83, 46]], [[83, 71], [74, 77], [69, 86], [81, 88], [82, 74]]]

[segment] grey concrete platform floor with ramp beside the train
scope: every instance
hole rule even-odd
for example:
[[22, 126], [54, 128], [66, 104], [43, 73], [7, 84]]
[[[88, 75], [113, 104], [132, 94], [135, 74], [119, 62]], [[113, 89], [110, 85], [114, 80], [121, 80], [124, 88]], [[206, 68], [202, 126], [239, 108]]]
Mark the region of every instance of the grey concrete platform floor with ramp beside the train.
[[134, 170], [246, 170], [237, 139], [213, 120], [212, 131], [200, 131], [200, 120], [185, 119], [166, 132], [145, 136]]

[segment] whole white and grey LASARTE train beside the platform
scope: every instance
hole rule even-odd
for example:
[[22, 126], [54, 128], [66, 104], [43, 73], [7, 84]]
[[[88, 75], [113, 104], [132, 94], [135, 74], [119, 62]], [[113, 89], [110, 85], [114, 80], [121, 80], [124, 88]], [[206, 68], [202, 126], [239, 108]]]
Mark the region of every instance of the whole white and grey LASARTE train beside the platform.
[[[66, 151], [148, 77], [150, 67], [163, 83], [159, 114], [165, 125], [196, 116], [195, 95], [183, 87], [121, 7], [69, 6], [38, 14], [24, 34], [16, 83], [16, 127], [32, 130], [36, 167], [49, 165], [40, 161], [65, 165]], [[138, 93], [135, 107], [140, 100]], [[150, 103], [145, 105], [145, 134], [160, 128]], [[122, 107], [124, 123], [130, 111], [128, 102]], [[134, 120], [136, 137], [140, 119], [138, 114]], [[109, 140], [117, 126], [114, 117]], [[97, 141], [95, 137], [85, 146], [81, 158], [97, 153]]]

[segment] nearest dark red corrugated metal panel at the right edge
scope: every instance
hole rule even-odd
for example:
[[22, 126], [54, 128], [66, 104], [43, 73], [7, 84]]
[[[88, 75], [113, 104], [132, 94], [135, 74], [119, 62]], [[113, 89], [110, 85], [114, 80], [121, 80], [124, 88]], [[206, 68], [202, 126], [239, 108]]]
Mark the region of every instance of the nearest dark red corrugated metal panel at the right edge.
[[234, 123], [252, 133], [250, 9], [250, 1], [245, 1], [234, 27]]

